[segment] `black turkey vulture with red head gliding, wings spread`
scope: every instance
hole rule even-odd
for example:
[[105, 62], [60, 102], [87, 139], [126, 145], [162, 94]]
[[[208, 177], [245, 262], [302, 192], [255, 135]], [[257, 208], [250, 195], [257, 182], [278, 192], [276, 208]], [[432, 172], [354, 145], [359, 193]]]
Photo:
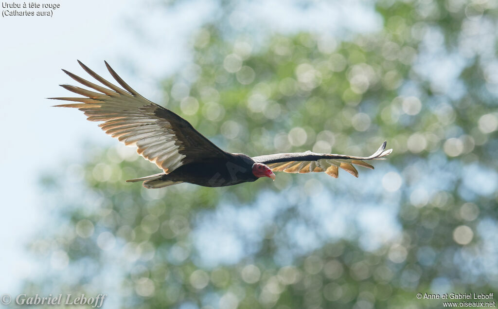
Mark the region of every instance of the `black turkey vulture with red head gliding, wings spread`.
[[307, 173], [324, 171], [337, 178], [339, 167], [358, 177], [356, 165], [373, 169], [364, 160], [380, 159], [391, 153], [386, 142], [371, 156], [316, 154], [269, 154], [250, 157], [227, 153], [195, 130], [185, 119], [159, 106], [131, 89], [105, 61], [120, 88], [97, 75], [78, 60], [81, 67], [106, 87], [99, 86], [66, 70], [75, 81], [92, 88], [71, 85], [63, 88], [84, 97], [50, 98], [78, 103], [56, 105], [77, 108], [90, 121], [102, 122], [102, 130], [125, 145], [136, 146], [137, 153], [155, 163], [163, 172], [128, 182], [143, 181], [146, 188], [160, 188], [189, 182], [207, 187], [234, 185], [260, 177], [275, 180], [276, 171]]

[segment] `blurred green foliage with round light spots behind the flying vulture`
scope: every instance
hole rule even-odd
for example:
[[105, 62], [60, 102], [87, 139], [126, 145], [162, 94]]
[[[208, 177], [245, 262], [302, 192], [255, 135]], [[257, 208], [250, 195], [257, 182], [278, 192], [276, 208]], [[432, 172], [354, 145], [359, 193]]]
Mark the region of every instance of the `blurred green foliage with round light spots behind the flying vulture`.
[[217, 145], [393, 154], [358, 179], [146, 190], [124, 179], [153, 164], [88, 147], [41, 182], [58, 224], [32, 242], [51, 270], [26, 287], [181, 309], [440, 308], [416, 293], [496, 291], [497, 7], [381, 0], [382, 29], [345, 38], [207, 24], [158, 103]]

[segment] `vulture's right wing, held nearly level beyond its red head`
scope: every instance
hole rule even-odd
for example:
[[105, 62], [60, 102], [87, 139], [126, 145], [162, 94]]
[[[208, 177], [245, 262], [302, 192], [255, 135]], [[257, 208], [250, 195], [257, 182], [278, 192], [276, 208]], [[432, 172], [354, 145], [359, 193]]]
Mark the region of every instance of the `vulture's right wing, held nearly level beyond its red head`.
[[383, 159], [392, 149], [385, 150], [386, 142], [371, 156], [352, 156], [345, 154], [315, 154], [310, 151], [292, 154], [268, 154], [255, 156], [256, 162], [268, 165], [273, 172], [308, 173], [324, 171], [337, 178], [339, 167], [358, 177], [358, 170], [353, 164], [373, 169], [373, 166], [364, 160]]

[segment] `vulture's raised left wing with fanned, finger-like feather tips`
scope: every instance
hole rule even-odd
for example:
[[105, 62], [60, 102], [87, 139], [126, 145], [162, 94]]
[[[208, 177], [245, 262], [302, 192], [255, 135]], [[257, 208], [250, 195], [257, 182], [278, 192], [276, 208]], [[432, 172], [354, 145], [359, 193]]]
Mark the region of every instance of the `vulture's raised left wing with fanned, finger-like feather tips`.
[[50, 98], [79, 102], [56, 106], [77, 108], [88, 116], [88, 120], [103, 122], [99, 125], [102, 130], [125, 145], [136, 146], [138, 154], [155, 163], [166, 173], [183, 164], [228, 155], [195, 130], [185, 119], [150, 102], [131, 89], [107, 62], [105, 62], [107, 69], [124, 89], [100, 77], [79, 60], [78, 63], [88, 74], [108, 88], [63, 70], [75, 81], [98, 92], [71, 85], [60, 85], [84, 97]]

